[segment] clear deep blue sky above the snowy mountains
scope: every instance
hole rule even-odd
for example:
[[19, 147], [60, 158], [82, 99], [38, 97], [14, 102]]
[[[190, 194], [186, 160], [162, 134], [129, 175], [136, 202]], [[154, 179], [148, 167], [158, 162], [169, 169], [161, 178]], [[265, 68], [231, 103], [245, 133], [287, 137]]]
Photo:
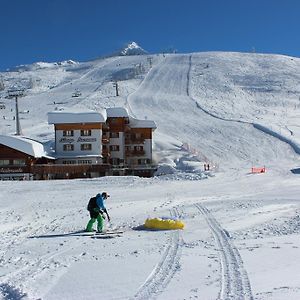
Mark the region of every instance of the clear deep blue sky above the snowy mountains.
[[0, 0], [0, 70], [86, 61], [128, 41], [150, 53], [300, 57], [300, 0]]

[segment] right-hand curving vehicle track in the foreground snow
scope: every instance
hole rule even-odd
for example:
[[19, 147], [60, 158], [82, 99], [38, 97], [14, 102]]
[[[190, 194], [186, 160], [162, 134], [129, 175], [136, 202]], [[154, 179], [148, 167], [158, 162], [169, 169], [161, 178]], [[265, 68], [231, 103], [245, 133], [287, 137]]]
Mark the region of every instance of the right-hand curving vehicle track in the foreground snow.
[[205, 217], [219, 250], [222, 269], [222, 285], [219, 299], [253, 300], [250, 282], [243, 267], [242, 258], [239, 251], [231, 243], [228, 233], [206, 207], [199, 203], [195, 204], [195, 206]]

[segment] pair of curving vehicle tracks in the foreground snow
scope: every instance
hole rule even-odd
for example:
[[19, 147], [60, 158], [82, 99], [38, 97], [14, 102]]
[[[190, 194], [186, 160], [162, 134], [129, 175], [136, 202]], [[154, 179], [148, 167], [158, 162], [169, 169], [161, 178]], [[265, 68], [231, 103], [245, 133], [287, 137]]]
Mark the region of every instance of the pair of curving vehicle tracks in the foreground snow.
[[[193, 205], [205, 218], [215, 240], [220, 257], [221, 289], [218, 299], [222, 300], [253, 300], [248, 274], [243, 266], [238, 249], [231, 242], [228, 232], [221, 227], [210, 211], [202, 204]], [[171, 211], [173, 216], [180, 216], [178, 208]], [[176, 270], [179, 269], [181, 257], [181, 232], [170, 232], [168, 244], [161, 260], [152, 270], [133, 299], [151, 299], [162, 292]]]

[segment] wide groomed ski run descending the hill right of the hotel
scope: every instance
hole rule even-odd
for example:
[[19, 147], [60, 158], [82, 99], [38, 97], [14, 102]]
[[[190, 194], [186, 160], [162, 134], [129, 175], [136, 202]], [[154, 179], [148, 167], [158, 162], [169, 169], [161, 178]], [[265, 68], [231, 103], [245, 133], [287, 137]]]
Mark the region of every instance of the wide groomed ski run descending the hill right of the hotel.
[[[251, 163], [276, 165], [278, 161], [293, 164], [294, 150], [278, 138], [266, 136], [265, 132], [255, 128], [253, 119], [232, 118], [231, 111], [224, 118], [221, 113], [220, 116], [213, 114], [202, 104], [206, 99], [197, 94], [201, 82], [193, 80], [199, 59], [194, 60], [193, 63], [192, 55], [168, 57], [151, 70], [137, 92], [129, 97], [137, 115], [142, 117], [148, 112], [149, 118], [158, 123], [160, 131], [174, 133], [182, 143], [191, 144], [209, 161], [224, 168], [245, 168]], [[223, 97], [217, 89], [212, 92]], [[223, 109], [222, 98], [220, 102]], [[290, 157], [292, 160], [288, 162]]]

